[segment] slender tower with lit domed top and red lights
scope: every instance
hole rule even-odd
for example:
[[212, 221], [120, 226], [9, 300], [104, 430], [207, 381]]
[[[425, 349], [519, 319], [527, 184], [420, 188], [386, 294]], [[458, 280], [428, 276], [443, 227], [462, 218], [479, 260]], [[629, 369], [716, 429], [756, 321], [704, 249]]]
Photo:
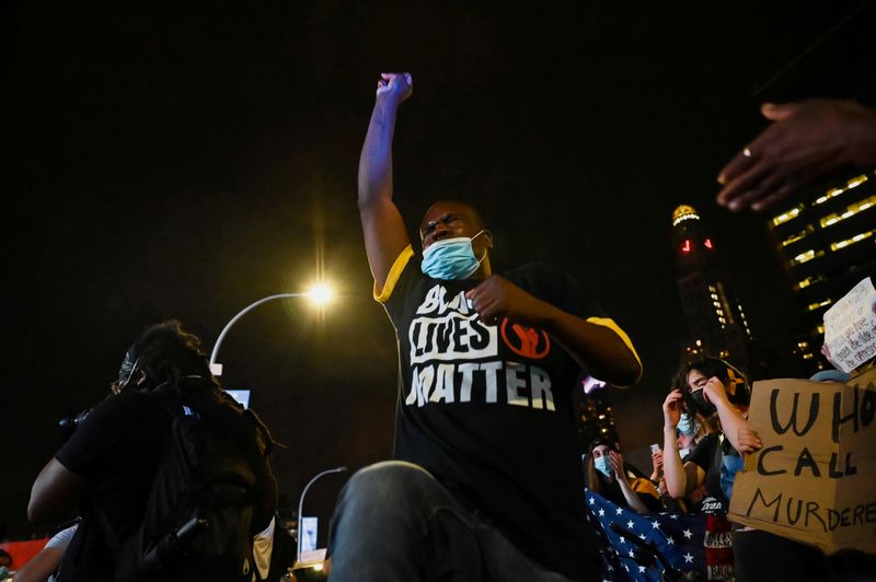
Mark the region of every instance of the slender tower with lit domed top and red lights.
[[678, 291], [690, 330], [681, 359], [714, 356], [747, 370], [751, 328], [741, 302], [718, 268], [716, 243], [692, 207], [680, 206], [672, 212], [672, 242]]

